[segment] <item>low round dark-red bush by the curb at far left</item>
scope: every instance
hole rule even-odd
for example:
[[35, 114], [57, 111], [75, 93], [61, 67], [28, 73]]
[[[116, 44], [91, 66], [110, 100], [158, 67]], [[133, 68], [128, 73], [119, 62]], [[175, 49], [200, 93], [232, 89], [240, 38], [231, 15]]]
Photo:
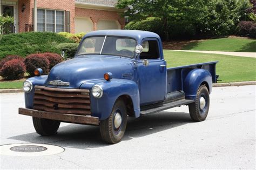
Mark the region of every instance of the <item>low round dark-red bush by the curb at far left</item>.
[[25, 71], [23, 60], [12, 59], [3, 65], [0, 74], [6, 80], [16, 80], [23, 78]]

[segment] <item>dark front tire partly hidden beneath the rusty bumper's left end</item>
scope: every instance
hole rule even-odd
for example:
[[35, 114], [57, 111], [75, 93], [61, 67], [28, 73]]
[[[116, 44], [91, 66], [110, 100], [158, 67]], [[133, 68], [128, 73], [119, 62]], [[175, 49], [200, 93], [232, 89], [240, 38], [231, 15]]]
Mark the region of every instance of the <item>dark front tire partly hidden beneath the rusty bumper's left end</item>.
[[53, 135], [57, 133], [60, 121], [33, 117], [33, 125], [38, 134]]

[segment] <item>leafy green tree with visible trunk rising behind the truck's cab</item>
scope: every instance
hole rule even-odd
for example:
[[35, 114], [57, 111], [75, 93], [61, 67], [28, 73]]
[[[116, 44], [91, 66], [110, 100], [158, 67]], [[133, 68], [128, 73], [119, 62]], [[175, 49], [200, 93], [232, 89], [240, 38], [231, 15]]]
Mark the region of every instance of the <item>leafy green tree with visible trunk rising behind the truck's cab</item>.
[[170, 25], [194, 25], [204, 16], [204, 3], [206, 0], [119, 0], [116, 7], [126, 8], [124, 15], [129, 16], [131, 21], [141, 21], [147, 17], [160, 18], [165, 38], [169, 40]]

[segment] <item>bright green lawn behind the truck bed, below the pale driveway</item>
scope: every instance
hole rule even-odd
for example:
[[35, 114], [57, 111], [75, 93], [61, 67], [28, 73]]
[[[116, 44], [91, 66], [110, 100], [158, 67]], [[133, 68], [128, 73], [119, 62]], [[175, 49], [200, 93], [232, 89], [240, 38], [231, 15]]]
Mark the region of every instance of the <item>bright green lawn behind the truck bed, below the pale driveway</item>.
[[256, 80], [256, 58], [164, 50], [167, 67], [218, 60], [219, 83]]

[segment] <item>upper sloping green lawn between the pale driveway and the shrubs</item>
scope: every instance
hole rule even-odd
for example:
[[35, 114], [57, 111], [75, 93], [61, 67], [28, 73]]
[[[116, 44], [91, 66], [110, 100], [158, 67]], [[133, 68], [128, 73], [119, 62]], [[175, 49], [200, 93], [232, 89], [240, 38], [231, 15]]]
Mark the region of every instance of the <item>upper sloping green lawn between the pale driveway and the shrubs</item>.
[[183, 50], [256, 52], [256, 39], [219, 38], [193, 42], [183, 46]]

